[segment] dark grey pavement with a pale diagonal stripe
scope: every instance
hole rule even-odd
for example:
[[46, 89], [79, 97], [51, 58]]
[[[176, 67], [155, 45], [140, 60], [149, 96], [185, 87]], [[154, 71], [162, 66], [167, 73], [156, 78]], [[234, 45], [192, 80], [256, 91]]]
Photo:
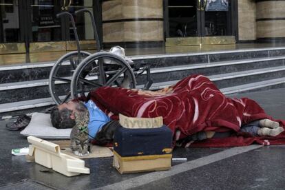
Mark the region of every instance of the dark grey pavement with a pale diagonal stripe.
[[[252, 98], [276, 119], [285, 119], [285, 88], [234, 94]], [[0, 120], [0, 189], [285, 189], [285, 145], [230, 148], [176, 148], [169, 171], [121, 175], [112, 158], [85, 160], [90, 174], [66, 177], [11, 149], [27, 147], [19, 131], [8, 131]]]

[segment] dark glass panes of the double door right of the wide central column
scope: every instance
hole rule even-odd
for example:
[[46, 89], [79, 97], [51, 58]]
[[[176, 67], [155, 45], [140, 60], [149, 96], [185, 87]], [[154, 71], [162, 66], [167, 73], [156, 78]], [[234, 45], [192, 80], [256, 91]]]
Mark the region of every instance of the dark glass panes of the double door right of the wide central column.
[[169, 37], [232, 35], [231, 1], [169, 0], [168, 13]]

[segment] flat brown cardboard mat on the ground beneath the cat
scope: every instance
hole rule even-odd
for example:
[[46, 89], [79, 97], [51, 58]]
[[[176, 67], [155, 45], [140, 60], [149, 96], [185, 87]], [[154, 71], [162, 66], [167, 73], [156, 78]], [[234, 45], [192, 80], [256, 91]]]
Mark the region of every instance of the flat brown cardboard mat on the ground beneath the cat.
[[74, 156], [75, 158], [85, 159], [85, 158], [103, 158], [103, 157], [111, 157], [113, 156], [113, 152], [108, 147], [101, 147], [97, 145], [90, 145], [90, 154], [88, 156], [76, 156], [72, 153], [70, 149], [70, 140], [54, 140], [50, 141], [54, 144], [59, 145], [61, 147], [61, 152], [63, 154], [68, 154], [70, 156]]

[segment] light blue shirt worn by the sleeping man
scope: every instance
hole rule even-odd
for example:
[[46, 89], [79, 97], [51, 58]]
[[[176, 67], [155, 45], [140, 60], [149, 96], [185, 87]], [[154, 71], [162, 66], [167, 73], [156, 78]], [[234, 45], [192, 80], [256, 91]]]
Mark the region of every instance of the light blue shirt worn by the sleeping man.
[[102, 110], [99, 109], [92, 100], [84, 103], [84, 105], [89, 111], [89, 138], [91, 138], [90, 136], [95, 137], [103, 125], [105, 125], [105, 123], [109, 122], [111, 119], [104, 112], [102, 112]]

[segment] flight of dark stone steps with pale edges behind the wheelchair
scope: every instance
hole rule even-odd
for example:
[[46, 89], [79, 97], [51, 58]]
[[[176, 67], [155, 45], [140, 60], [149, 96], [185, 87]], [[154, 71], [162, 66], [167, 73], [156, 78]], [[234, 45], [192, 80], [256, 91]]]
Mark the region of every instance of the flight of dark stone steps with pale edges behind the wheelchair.
[[[151, 65], [151, 89], [172, 85], [189, 74], [208, 76], [222, 92], [231, 94], [284, 85], [285, 47], [131, 56], [134, 63]], [[54, 105], [48, 92], [48, 76], [54, 63], [33, 63], [0, 67], [0, 116]], [[69, 63], [64, 63], [70, 67]], [[63, 69], [63, 72], [69, 70]], [[145, 76], [137, 78], [138, 88]], [[57, 85], [63, 91], [67, 83]]]

